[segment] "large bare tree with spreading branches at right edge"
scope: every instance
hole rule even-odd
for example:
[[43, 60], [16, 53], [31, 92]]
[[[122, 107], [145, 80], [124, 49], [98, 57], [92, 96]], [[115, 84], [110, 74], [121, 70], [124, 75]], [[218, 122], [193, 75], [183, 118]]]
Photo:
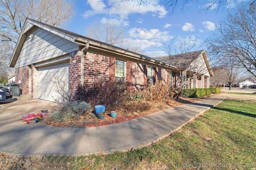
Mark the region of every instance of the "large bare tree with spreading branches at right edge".
[[216, 57], [227, 53], [238, 59], [256, 77], [256, 4], [238, 6], [228, 12], [208, 41]]

